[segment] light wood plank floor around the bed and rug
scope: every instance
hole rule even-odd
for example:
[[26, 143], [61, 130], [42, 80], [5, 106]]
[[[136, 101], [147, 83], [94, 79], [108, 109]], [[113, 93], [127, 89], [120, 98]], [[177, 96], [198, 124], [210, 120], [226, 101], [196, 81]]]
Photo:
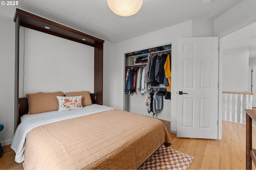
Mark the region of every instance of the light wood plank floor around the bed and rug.
[[[163, 121], [167, 129], [170, 122]], [[172, 149], [194, 157], [189, 169], [245, 169], [244, 124], [222, 121], [222, 140], [177, 138], [170, 133]], [[252, 127], [252, 147], [256, 148], [256, 127]], [[10, 145], [4, 146], [0, 157], [0, 169], [23, 169], [14, 161], [15, 153]], [[253, 163], [252, 163], [253, 164]], [[256, 169], [253, 164], [253, 169]]]

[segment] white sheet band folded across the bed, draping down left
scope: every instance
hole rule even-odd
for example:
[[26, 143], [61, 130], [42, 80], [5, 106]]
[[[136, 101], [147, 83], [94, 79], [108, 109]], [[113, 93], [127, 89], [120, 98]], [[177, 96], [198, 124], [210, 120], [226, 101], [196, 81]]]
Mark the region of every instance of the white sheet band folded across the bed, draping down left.
[[15, 161], [21, 163], [24, 161], [24, 150], [27, 133], [38, 126], [71, 119], [74, 117], [80, 117], [84, 115], [90, 115], [102, 111], [114, 109], [108, 106], [102, 106], [93, 104], [90, 106], [82, 107], [82, 109], [70, 110], [70, 111], [50, 111], [46, 113], [39, 113], [35, 115], [25, 115], [22, 122], [16, 129], [14, 134], [11, 148], [15, 151]]

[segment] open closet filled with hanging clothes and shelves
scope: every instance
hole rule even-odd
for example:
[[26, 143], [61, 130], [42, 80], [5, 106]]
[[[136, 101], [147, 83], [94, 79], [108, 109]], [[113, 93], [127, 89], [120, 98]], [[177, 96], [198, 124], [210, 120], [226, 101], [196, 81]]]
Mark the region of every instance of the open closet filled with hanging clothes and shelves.
[[124, 57], [124, 110], [170, 121], [172, 44]]

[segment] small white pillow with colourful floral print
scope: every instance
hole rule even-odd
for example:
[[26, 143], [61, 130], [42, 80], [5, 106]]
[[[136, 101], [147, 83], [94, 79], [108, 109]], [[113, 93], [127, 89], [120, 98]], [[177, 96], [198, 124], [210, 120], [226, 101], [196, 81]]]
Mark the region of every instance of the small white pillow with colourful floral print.
[[67, 111], [82, 108], [82, 96], [57, 96], [59, 102], [58, 111]]

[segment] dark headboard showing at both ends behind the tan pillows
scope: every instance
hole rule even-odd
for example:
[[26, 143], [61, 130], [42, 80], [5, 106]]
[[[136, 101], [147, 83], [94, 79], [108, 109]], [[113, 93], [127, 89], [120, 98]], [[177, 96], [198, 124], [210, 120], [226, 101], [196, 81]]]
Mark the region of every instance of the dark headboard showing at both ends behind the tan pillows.
[[[90, 93], [92, 104], [96, 104], [97, 93]], [[28, 99], [27, 98], [19, 98], [18, 101], [19, 110], [18, 110], [18, 124], [20, 124], [20, 117], [22, 115], [28, 114]]]

